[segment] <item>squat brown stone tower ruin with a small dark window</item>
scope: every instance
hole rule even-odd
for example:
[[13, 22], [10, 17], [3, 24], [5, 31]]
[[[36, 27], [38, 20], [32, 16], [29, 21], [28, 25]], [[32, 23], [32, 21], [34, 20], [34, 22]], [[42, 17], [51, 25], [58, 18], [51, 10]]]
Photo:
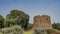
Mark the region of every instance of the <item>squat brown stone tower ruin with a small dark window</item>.
[[52, 29], [50, 16], [48, 15], [37, 15], [34, 17], [33, 29]]

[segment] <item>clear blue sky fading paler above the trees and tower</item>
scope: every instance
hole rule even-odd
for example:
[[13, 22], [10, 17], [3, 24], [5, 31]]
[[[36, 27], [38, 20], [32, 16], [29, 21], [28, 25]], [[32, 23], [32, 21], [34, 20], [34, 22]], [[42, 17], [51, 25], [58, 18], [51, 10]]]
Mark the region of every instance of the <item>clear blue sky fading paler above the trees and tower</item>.
[[50, 16], [51, 23], [60, 22], [60, 0], [0, 0], [0, 14], [4, 18], [13, 9], [29, 14], [30, 23], [36, 15]]

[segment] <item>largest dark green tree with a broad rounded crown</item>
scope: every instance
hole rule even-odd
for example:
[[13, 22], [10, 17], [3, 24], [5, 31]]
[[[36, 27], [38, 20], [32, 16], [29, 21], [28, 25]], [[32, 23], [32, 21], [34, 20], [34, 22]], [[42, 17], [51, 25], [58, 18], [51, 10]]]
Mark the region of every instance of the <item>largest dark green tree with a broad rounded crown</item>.
[[24, 13], [21, 10], [11, 10], [10, 14], [7, 15], [8, 19], [16, 19], [17, 25], [22, 26], [22, 28], [26, 29], [29, 21], [29, 15]]

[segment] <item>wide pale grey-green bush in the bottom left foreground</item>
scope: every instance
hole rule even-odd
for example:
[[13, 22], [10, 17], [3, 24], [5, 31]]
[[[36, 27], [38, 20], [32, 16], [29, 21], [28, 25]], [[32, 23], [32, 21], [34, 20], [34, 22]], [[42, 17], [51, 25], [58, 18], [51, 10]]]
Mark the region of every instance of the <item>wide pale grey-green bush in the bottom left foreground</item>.
[[0, 30], [3, 34], [23, 34], [23, 30], [20, 26], [13, 26], [10, 28], [3, 28]]

